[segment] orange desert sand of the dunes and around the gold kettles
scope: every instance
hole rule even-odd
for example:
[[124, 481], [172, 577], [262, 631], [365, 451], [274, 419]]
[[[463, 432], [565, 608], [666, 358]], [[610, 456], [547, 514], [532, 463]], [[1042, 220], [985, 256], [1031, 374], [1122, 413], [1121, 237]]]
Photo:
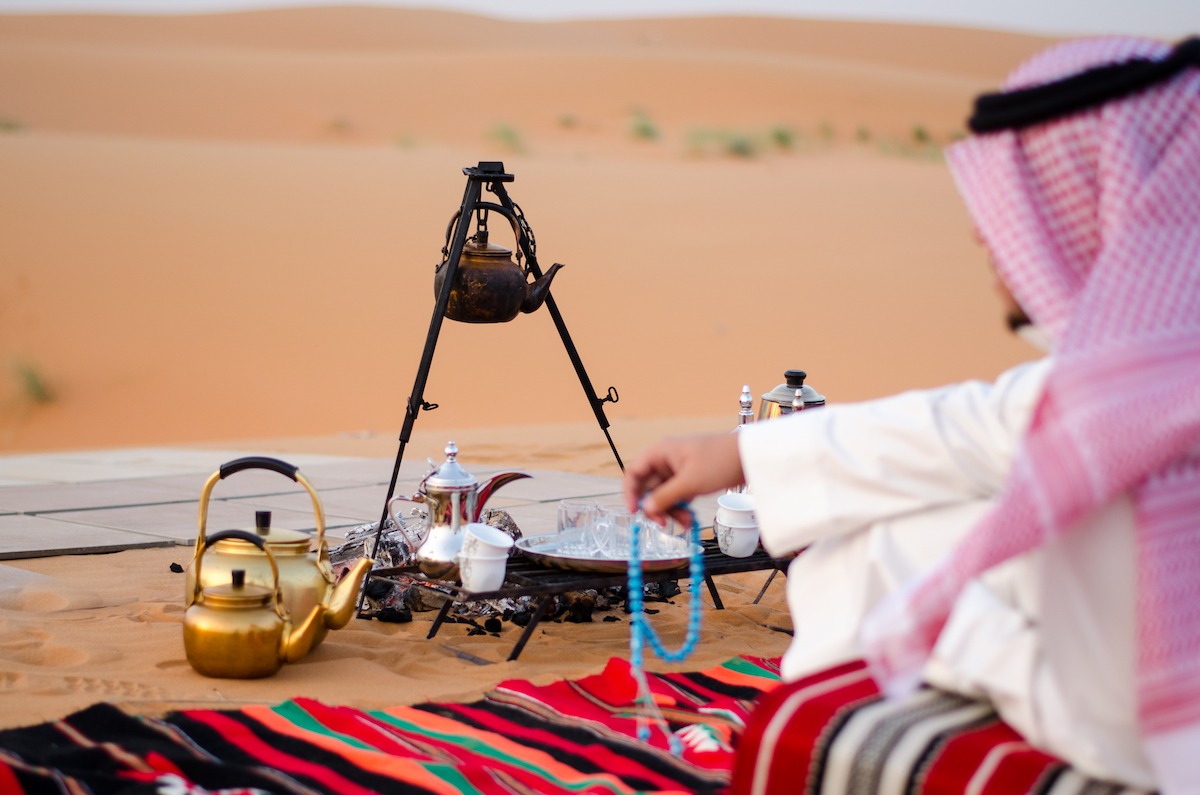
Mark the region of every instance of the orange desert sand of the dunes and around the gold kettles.
[[[619, 394], [626, 459], [730, 426], [742, 385], [786, 369], [830, 402], [992, 377], [1033, 352], [1000, 322], [938, 150], [1048, 43], [761, 18], [0, 16], [0, 454], [394, 454], [462, 168], [484, 160], [515, 175], [542, 268], [565, 264], [553, 295], [595, 391]], [[424, 398], [422, 440], [616, 474], [545, 309], [444, 323]], [[426, 641], [419, 616], [215, 682], [178, 648], [185, 557], [16, 562], [53, 579], [0, 594], [0, 723], [460, 698], [626, 652], [625, 622], [552, 624], [505, 663], [508, 641]], [[708, 612], [686, 665], [782, 652], [782, 587], [751, 606], [760, 584], [733, 580], [750, 596]]]

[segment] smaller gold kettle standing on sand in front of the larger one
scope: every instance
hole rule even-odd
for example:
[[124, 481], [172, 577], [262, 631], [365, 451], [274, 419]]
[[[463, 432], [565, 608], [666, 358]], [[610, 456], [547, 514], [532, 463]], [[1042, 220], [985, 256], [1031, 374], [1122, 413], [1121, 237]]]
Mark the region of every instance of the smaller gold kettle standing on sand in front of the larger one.
[[[234, 540], [258, 546], [270, 566], [271, 587], [247, 584], [242, 569], [233, 569], [223, 585], [200, 587], [204, 552]], [[208, 543], [198, 542], [198, 548], [196, 584], [184, 612], [184, 651], [192, 668], [204, 676], [260, 679], [308, 653], [320, 627], [320, 606], [314, 605], [304, 623], [293, 627], [280, 591], [280, 569], [266, 542], [228, 530]]]

